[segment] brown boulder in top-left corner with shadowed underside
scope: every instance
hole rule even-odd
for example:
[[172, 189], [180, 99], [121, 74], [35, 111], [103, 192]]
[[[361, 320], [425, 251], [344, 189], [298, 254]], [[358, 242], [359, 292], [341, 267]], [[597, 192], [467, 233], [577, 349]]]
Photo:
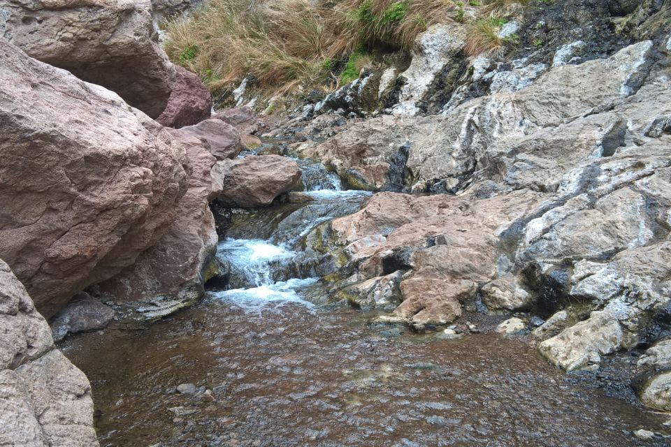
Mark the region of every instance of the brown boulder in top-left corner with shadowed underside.
[[[150, 0], [8, 0], [5, 38], [29, 56], [161, 115], [175, 68], [157, 43]], [[2, 15], [2, 14], [0, 14]]]

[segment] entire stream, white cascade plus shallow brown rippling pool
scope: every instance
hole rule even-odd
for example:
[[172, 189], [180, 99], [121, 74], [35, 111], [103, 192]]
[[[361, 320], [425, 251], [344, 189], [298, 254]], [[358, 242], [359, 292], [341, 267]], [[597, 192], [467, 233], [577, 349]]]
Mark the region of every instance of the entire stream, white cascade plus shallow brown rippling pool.
[[308, 300], [328, 266], [302, 238], [368, 193], [304, 172], [313, 201], [233, 213], [217, 251], [226, 288], [61, 346], [92, 382], [102, 446], [664, 445], [633, 437], [664, 418], [616, 374], [564, 374], [528, 340], [491, 333], [500, 318], [474, 315], [481, 333], [445, 339]]

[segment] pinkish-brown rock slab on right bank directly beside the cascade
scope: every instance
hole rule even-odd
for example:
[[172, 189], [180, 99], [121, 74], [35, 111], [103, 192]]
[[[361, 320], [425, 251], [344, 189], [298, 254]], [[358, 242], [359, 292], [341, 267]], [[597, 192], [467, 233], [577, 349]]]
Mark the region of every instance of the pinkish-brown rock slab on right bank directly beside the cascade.
[[500, 227], [533, 210], [542, 196], [516, 191], [474, 200], [380, 193], [356, 214], [331, 224], [363, 277], [412, 270], [401, 281], [395, 313], [415, 326], [461, 316], [480, 286], [496, 277]]

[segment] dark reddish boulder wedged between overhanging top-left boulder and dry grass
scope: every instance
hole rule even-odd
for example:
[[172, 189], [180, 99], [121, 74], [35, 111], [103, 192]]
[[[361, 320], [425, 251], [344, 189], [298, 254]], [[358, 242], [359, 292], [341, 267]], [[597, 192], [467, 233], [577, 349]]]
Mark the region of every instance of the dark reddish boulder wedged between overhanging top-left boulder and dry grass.
[[175, 67], [175, 85], [168, 105], [156, 119], [166, 127], [192, 126], [208, 119], [212, 112], [212, 95], [201, 79], [186, 68]]

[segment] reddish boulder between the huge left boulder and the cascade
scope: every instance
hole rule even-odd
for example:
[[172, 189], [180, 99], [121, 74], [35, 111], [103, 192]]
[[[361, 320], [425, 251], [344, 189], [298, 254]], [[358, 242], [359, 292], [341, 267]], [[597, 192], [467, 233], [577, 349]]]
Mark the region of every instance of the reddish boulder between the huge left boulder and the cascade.
[[149, 319], [194, 304], [205, 293], [205, 281], [217, 274], [218, 238], [209, 207], [209, 198], [222, 191], [222, 183], [213, 181], [211, 173], [217, 160], [192, 133], [181, 129], [170, 133], [187, 149], [192, 168], [187, 192], [175, 205], [176, 219], [134, 265], [92, 288], [96, 295], [117, 303], [134, 303]]

